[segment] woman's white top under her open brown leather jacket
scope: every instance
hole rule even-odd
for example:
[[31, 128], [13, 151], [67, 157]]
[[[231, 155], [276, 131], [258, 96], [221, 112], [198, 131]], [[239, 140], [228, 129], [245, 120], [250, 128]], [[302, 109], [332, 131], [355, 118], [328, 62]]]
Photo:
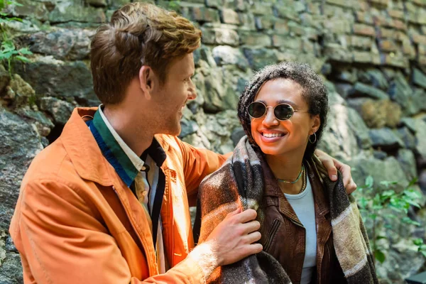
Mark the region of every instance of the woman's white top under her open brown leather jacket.
[[303, 261], [300, 284], [312, 283], [312, 275], [317, 266], [317, 224], [315, 223], [314, 195], [309, 178], [305, 190], [298, 195], [284, 194], [293, 210], [305, 227], [305, 259]]

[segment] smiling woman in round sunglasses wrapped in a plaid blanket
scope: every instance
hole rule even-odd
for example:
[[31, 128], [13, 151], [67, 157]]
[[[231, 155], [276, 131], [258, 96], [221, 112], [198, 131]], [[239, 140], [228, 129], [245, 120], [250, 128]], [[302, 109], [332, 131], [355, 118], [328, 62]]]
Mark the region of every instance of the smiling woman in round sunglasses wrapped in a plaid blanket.
[[200, 186], [200, 241], [231, 209], [255, 208], [263, 252], [218, 269], [211, 282], [377, 283], [356, 203], [314, 155], [327, 110], [321, 78], [293, 62], [259, 71], [241, 94], [247, 137]]

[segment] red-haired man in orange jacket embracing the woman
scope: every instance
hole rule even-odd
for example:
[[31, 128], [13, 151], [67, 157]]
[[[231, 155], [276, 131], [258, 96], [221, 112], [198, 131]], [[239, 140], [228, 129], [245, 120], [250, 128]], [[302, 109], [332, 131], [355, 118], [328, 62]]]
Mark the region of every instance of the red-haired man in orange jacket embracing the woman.
[[[189, 207], [226, 159], [180, 141], [197, 96], [201, 32], [150, 4], [126, 4], [99, 27], [91, 67], [99, 108], [77, 108], [31, 163], [10, 233], [24, 283], [204, 283], [262, 250], [254, 210], [233, 212], [194, 248]], [[324, 153], [330, 175], [333, 163]]]

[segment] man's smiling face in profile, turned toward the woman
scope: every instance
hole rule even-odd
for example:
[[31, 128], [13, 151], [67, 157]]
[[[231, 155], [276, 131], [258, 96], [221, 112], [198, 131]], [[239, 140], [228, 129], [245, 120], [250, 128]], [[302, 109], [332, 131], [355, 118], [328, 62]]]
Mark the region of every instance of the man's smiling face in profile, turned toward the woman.
[[195, 99], [197, 92], [191, 80], [194, 75], [194, 57], [192, 53], [175, 58], [167, 68], [164, 84], [158, 88], [155, 104], [158, 109], [158, 133], [178, 135], [182, 109], [188, 99]]

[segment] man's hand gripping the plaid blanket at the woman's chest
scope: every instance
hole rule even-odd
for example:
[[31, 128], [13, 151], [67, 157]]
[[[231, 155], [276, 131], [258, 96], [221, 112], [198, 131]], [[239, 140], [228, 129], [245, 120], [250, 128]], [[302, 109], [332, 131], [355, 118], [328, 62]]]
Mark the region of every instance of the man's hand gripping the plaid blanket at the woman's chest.
[[237, 209], [226, 215], [225, 219], [207, 237], [212, 250], [217, 255], [217, 266], [225, 266], [246, 256], [262, 251], [261, 244], [253, 244], [261, 239], [257, 230], [261, 224], [256, 219], [256, 211]]

